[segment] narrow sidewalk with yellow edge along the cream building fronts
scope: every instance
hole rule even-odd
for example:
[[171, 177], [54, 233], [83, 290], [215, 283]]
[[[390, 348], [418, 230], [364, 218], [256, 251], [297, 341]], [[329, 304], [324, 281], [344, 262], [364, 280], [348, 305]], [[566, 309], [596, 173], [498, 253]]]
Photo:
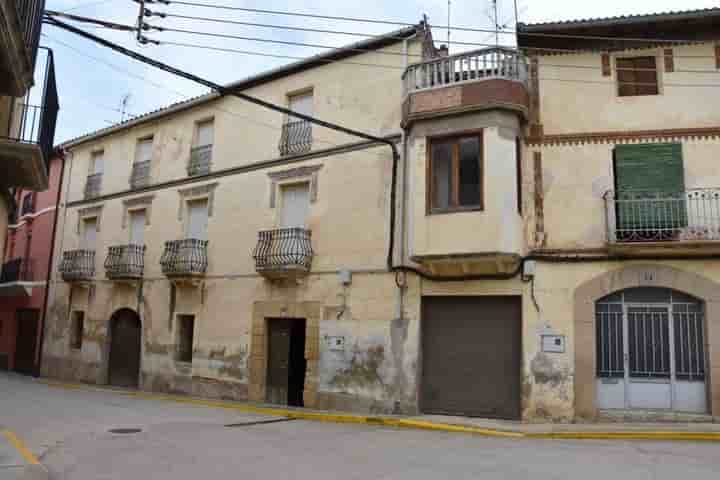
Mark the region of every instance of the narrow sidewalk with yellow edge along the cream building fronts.
[[488, 437], [529, 439], [578, 439], [578, 440], [692, 440], [720, 442], [720, 423], [572, 423], [528, 424], [516, 421], [488, 420], [442, 415], [362, 415], [329, 412], [306, 408], [283, 407], [248, 402], [232, 402], [205, 398], [150, 393], [114, 387], [63, 383], [40, 380], [45, 385], [68, 390], [96, 390], [112, 392], [147, 400], [170, 401], [187, 405], [223, 408], [245, 413], [281, 416], [302, 420], [360, 423], [396, 428], [415, 428], [445, 432], [469, 433]]

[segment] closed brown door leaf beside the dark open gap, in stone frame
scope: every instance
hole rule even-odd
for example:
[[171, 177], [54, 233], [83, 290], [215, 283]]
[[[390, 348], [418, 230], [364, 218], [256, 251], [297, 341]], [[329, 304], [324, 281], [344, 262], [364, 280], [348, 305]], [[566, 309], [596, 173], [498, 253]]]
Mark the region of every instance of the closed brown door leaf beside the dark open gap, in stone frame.
[[287, 405], [292, 320], [268, 320], [267, 401]]

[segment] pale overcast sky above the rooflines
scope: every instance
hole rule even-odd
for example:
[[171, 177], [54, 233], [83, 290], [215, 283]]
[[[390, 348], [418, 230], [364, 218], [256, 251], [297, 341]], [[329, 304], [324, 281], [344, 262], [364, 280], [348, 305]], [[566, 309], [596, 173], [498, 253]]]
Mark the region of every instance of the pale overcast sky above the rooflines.
[[[195, 1], [198, 3], [319, 13], [333, 16], [386, 19], [408, 23], [417, 22], [423, 14], [427, 14], [430, 23], [435, 25], [447, 24], [448, 6], [447, 0], [363, 0], [355, 2], [338, 0]], [[527, 23], [720, 6], [720, 0], [603, 0], [593, 2], [587, 0], [518, 0], [518, 3], [520, 21]], [[491, 28], [491, 4], [491, 0], [452, 0], [451, 23], [456, 26]], [[499, 4], [501, 24], [512, 28], [514, 23], [513, 1], [499, 0]], [[131, 0], [47, 0], [46, 8], [125, 24], [134, 24], [137, 18], [137, 4]], [[302, 26], [367, 34], [381, 34], [395, 29], [395, 27], [389, 25], [332, 22], [180, 5], [158, 6], [156, 9], [174, 14], [220, 17], [243, 22]], [[154, 19], [154, 21], [157, 22], [157, 19]], [[291, 32], [207, 22], [191, 23], [178, 19], [164, 19], [158, 24], [206, 32], [334, 46], [342, 46], [362, 39], [357, 36], [336, 34]], [[88, 31], [220, 83], [238, 80], [292, 62], [292, 60], [286, 59], [210, 52], [176, 46], [140, 47], [129, 33], [94, 28], [88, 28]], [[439, 29], [437, 26], [433, 30], [433, 34], [439, 42], [447, 38], [446, 30]], [[167, 41], [299, 57], [327, 51], [319, 48], [218, 39], [170, 32], [158, 34], [157, 38]], [[487, 43], [494, 41], [494, 37], [492, 34], [484, 33], [453, 32], [451, 40]], [[501, 42], [512, 43], [512, 36], [505, 36], [504, 41], [501, 40]], [[123, 97], [127, 95], [129, 95], [127, 112], [129, 114], [141, 114], [182, 100], [188, 96], [205, 92], [202, 87], [191, 82], [156, 71], [152, 67], [137, 63], [103, 47], [95, 46], [88, 40], [49, 25], [43, 27], [41, 44], [52, 48], [55, 53], [61, 106], [55, 137], [56, 143], [118, 122], [121, 118], [121, 103]], [[467, 48], [472, 47], [465, 47], [464, 49]], [[451, 48], [451, 53], [460, 50], [462, 49]], [[400, 74], [398, 73], [398, 75]]]

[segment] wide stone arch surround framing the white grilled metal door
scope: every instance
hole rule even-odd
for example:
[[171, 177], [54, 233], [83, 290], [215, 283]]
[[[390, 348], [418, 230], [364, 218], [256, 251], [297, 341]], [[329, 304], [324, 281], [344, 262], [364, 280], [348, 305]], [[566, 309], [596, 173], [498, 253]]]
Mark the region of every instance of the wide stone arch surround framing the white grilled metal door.
[[720, 284], [678, 268], [639, 264], [609, 270], [575, 289], [575, 418], [595, 420], [598, 416], [595, 406], [595, 302], [618, 290], [647, 286], [678, 290], [704, 302], [708, 407], [709, 413], [720, 415]]

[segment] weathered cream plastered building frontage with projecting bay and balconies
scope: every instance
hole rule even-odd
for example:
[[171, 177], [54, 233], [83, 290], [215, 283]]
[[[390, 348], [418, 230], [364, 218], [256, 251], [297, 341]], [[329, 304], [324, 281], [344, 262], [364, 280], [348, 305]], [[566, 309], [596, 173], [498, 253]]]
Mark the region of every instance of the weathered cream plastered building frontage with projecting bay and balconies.
[[44, 373], [376, 413], [718, 415], [720, 12], [683, 15], [521, 24], [519, 50], [453, 56], [420, 24], [236, 84], [394, 148], [217, 96], [68, 142]]

